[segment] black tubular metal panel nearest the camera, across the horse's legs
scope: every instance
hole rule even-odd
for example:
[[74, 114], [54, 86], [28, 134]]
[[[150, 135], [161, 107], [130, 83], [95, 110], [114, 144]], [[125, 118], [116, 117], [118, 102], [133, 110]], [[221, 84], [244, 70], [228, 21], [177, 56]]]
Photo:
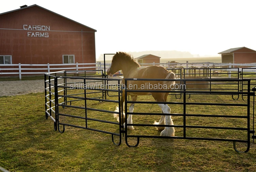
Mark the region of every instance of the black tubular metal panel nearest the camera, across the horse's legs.
[[[236, 148], [236, 142], [244, 142], [247, 143], [247, 148], [244, 152], [248, 152], [249, 148], [250, 148], [250, 134], [254, 133], [254, 127], [253, 130], [250, 130], [250, 96], [253, 96], [254, 93], [250, 92], [250, 80], [249, 79], [243, 79], [243, 80], [239, 80], [239, 79], [179, 79], [179, 81], [181, 83], [183, 83], [184, 85], [186, 85], [187, 82], [191, 82], [191, 81], [211, 81], [211, 82], [215, 82], [215, 81], [221, 81], [221, 82], [234, 82], [234, 83], [238, 83], [238, 82], [246, 82], [247, 85], [247, 90], [243, 91], [243, 92], [234, 92], [232, 90], [230, 91], [223, 91], [223, 90], [211, 90], [211, 91], [205, 91], [205, 90], [199, 90], [199, 91], [193, 91], [193, 90], [187, 90], [186, 88], [184, 88], [183, 90], [171, 90], [171, 91], [166, 91], [166, 90], [141, 90], [141, 89], [136, 89], [136, 90], [129, 90], [128, 85], [127, 85], [127, 81], [173, 81], [175, 79], [131, 79], [131, 78], [127, 78], [125, 79], [125, 116], [126, 116], [126, 121], [125, 121], [125, 128], [127, 128], [127, 126], [149, 126], [149, 127], [175, 127], [175, 128], [183, 128], [183, 136], [177, 137], [166, 137], [166, 136], [146, 136], [146, 135], [129, 135], [127, 130], [125, 130], [125, 141], [126, 144], [129, 147], [134, 147], [134, 146], [138, 146], [139, 144], [139, 140], [140, 138], [170, 138], [170, 139], [189, 139], [189, 140], [212, 140], [212, 141], [229, 141], [229, 142], [233, 142], [233, 147], [234, 150], [239, 152]], [[177, 81], [177, 80], [175, 80]], [[182, 93], [183, 94], [183, 101], [181, 102], [156, 102], [156, 101], [129, 101], [127, 99], [127, 95], [129, 93], [132, 92], [164, 92], [164, 93]], [[188, 102], [188, 97], [186, 95], [189, 94], [203, 94], [203, 95], [207, 95], [207, 94], [212, 94], [212, 95], [233, 95], [233, 94], [241, 94], [244, 96], [247, 96], [247, 100], [245, 101], [246, 103], [242, 103], [242, 104], [238, 104], [238, 103], [202, 103], [202, 102]], [[237, 100], [236, 100], [237, 101]], [[136, 104], [168, 104], [168, 105], [181, 105], [183, 106], [183, 113], [170, 113], [170, 114], [162, 114], [162, 113], [147, 113], [147, 112], [143, 112], [143, 113], [139, 113], [139, 112], [129, 112], [128, 109], [128, 103], [136, 103]], [[186, 106], [188, 105], [210, 105], [210, 106], [224, 106], [224, 107], [244, 107], [246, 114], [245, 115], [221, 115], [221, 114], [190, 114], [186, 112]], [[183, 116], [183, 125], [154, 125], [154, 124], [127, 124], [127, 115], [172, 115], [172, 116]], [[187, 117], [200, 117], [200, 118], [237, 118], [237, 119], [246, 119], [246, 126], [244, 127], [223, 127], [223, 126], [199, 126], [199, 125], [187, 125]], [[201, 128], [201, 129], [223, 129], [223, 130], [240, 130], [240, 131], [246, 131], [246, 138], [244, 140], [241, 139], [224, 139], [224, 138], [203, 138], [203, 137], [188, 137], [186, 134], [186, 130], [188, 128]], [[129, 143], [127, 142], [127, 138], [137, 138], [137, 143], [133, 146], [129, 145]]]

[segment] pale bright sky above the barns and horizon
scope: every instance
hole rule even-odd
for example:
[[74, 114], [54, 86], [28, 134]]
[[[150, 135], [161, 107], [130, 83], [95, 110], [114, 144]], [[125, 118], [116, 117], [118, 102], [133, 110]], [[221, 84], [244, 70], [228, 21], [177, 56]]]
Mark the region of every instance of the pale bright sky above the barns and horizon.
[[9, 0], [1, 1], [0, 13], [25, 4], [96, 29], [96, 58], [116, 51], [218, 56], [229, 48], [256, 49], [255, 0]]

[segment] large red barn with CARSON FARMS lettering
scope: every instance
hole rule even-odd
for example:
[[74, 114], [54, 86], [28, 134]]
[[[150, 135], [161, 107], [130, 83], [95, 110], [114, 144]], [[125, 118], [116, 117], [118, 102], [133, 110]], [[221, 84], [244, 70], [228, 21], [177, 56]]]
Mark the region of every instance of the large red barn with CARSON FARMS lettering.
[[95, 29], [36, 4], [0, 21], [0, 64], [96, 63]]

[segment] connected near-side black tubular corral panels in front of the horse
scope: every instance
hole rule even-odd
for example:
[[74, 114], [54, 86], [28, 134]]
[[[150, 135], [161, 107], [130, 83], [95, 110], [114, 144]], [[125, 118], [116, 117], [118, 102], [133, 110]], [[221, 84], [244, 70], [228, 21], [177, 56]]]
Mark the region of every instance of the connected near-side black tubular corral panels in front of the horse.
[[[63, 72], [63, 71], [61, 71]], [[55, 75], [57, 73], [60, 73], [60, 72], [56, 72]], [[237, 81], [238, 83], [239, 82], [247, 82], [247, 92], [238, 92], [236, 94], [240, 95], [240, 94], [246, 94], [247, 95], [247, 104], [213, 104], [213, 103], [187, 103], [186, 102], [186, 94], [188, 93], [189, 95], [192, 94], [192, 93], [205, 93], [205, 94], [226, 94], [226, 95], [232, 95], [234, 92], [207, 92], [207, 91], [187, 91], [186, 89], [183, 89], [181, 91], [176, 91], [177, 93], [182, 93], [183, 94], [183, 103], [179, 102], [179, 103], [175, 103], [175, 102], [146, 102], [147, 104], [183, 104], [183, 114], [156, 114], [156, 113], [129, 113], [127, 112], [127, 103], [132, 103], [132, 101], [128, 101], [127, 100], [127, 92], [169, 92], [169, 93], [173, 93], [174, 91], [158, 91], [158, 90], [154, 90], [154, 91], [146, 91], [146, 90], [127, 90], [127, 80], [134, 80], [133, 78], [128, 78], [128, 79], [125, 79], [125, 90], [124, 90], [124, 93], [125, 93], [125, 128], [127, 128], [127, 125], [133, 125], [133, 126], [155, 126], [155, 125], [147, 125], [147, 124], [127, 124], [127, 115], [128, 114], [137, 114], [137, 115], [174, 115], [174, 116], [183, 116], [183, 125], [157, 125], [157, 126], [168, 126], [168, 127], [182, 127], [183, 128], [183, 137], [163, 137], [163, 136], [133, 136], [133, 135], [128, 135], [127, 134], [127, 130], [125, 129], [124, 130], [124, 126], [123, 124], [121, 124], [121, 120], [119, 120], [119, 123], [115, 123], [115, 122], [109, 122], [109, 121], [103, 121], [103, 120], [97, 120], [97, 119], [91, 119], [91, 118], [87, 118], [87, 110], [96, 110], [96, 111], [102, 111], [102, 112], [109, 112], [109, 113], [112, 113], [113, 111], [106, 111], [106, 110], [99, 110], [99, 109], [93, 109], [93, 108], [88, 108], [87, 107], [87, 103], [86, 103], [86, 100], [95, 100], [94, 98], [87, 98], [86, 97], [86, 89], [84, 89], [84, 98], [82, 97], [74, 97], [74, 96], [70, 96], [70, 95], [67, 95], [67, 92], [65, 92], [65, 90], [67, 88], [70, 88], [66, 85], [66, 79], [67, 78], [72, 78], [72, 79], [84, 79], [84, 84], [86, 83], [86, 79], [96, 79], [96, 80], [99, 80], [99, 78], [81, 78], [81, 77], [67, 77], [66, 76], [66, 72], [64, 71], [64, 75], [63, 77], [57, 77], [57, 76], [53, 76], [51, 75], [53, 73], [50, 73], [50, 74], [45, 74], [44, 76], [44, 79], [45, 79], [45, 112], [47, 112], [47, 83], [49, 84], [49, 99], [50, 101], [48, 101], [48, 103], [50, 104], [50, 108], [48, 109], [49, 110], [49, 113], [46, 113], [45, 115], [48, 116], [51, 116], [52, 114], [52, 102], [51, 101], [51, 77], [54, 77], [54, 96], [55, 96], [55, 122], [54, 122], [54, 129], [56, 130], [58, 128], [59, 132], [64, 132], [65, 131], [65, 126], [72, 126], [72, 127], [77, 127], [77, 128], [83, 128], [83, 129], [88, 129], [88, 130], [93, 130], [93, 131], [99, 131], [99, 132], [103, 132], [103, 133], [107, 133], [107, 134], [111, 134], [112, 135], [112, 142], [115, 144], [115, 145], [120, 145], [121, 144], [121, 141], [122, 141], [122, 133], [125, 134], [125, 142], [127, 144], [127, 146], [129, 147], [135, 147], [135, 146], [138, 146], [139, 144], [139, 140], [140, 138], [172, 138], [172, 139], [193, 139], [193, 140], [215, 140], [215, 141], [230, 141], [230, 142], [233, 142], [233, 148], [236, 152], [240, 152], [241, 151], [238, 151], [237, 148], [236, 148], [236, 142], [245, 142], [247, 143], [247, 149], [246, 151], [244, 152], [248, 152], [248, 150], [250, 149], [250, 134], [253, 133], [254, 135], [254, 125], [253, 125], [253, 130], [250, 130], [250, 96], [251, 95], [254, 95], [254, 93], [250, 92], [250, 79], [179, 79], [179, 81], [183, 82], [184, 84], [186, 84], [186, 81]], [[48, 82], [47, 82], [47, 76], [48, 76]], [[58, 85], [58, 79], [59, 78], [63, 78], [64, 79], [64, 83], [65, 83], [65, 86], [62, 86], [62, 84], [59, 84]], [[108, 81], [108, 80], [117, 80], [118, 81], [118, 84], [120, 84], [120, 80], [119, 79], [108, 79], [108, 78], [102, 78], [100, 80], [103, 80], [104, 82]], [[176, 79], [136, 79], [136, 80], [145, 80], [145, 81], [156, 81], [156, 80], [161, 80], [161, 81], [171, 81], [171, 80], [176, 80]], [[58, 95], [58, 93], [60, 91], [58, 91], [58, 88], [64, 88], [64, 95]], [[89, 90], [89, 89], [88, 89]], [[90, 90], [93, 90], [93, 89], [90, 89]], [[99, 89], [98, 89], [99, 90]], [[119, 119], [123, 118], [123, 112], [122, 112], [122, 108], [123, 105], [121, 105], [122, 103], [122, 93], [123, 93], [123, 90], [120, 89], [120, 90], [109, 90], [109, 89], [102, 89], [101, 91], [104, 91], [105, 93], [107, 91], [114, 91], [114, 92], [118, 92], [118, 105], [119, 105]], [[59, 98], [61, 97], [64, 97], [64, 102], [62, 103], [59, 103]], [[67, 97], [72, 97], [72, 98], [81, 98], [82, 100], [85, 101], [85, 107], [82, 108], [82, 107], [75, 107], [75, 106], [69, 106], [65, 103], [65, 98]], [[102, 101], [107, 101], [106, 100], [106, 97], [105, 99], [102, 98], [100, 99]], [[117, 103], [116, 100], [109, 100], [110, 102], [115, 102]], [[141, 101], [136, 101], [136, 103], [145, 103], [145, 102], [141, 102]], [[254, 100], [253, 100], [253, 103], [254, 103]], [[186, 105], [215, 105], [215, 106], [247, 106], [247, 116], [229, 116], [229, 115], [203, 115], [203, 114], [186, 114]], [[85, 117], [77, 117], [77, 116], [72, 116], [72, 115], [68, 115], [68, 114], [60, 114], [59, 113], [59, 106], [62, 106], [62, 107], [72, 107], [72, 108], [81, 108], [81, 109], [85, 109]], [[116, 113], [116, 112], [115, 112]], [[254, 113], [254, 111], [253, 111]], [[85, 119], [85, 127], [82, 127], [82, 126], [76, 126], [76, 125], [71, 125], [71, 124], [66, 124], [66, 123], [60, 123], [59, 122], [59, 115], [63, 115], [63, 116], [69, 116], [69, 117], [73, 117], [73, 118], [81, 118], [81, 119]], [[254, 114], [253, 114], [254, 115]], [[247, 128], [237, 128], [237, 127], [211, 127], [211, 126], [187, 126], [186, 125], [186, 116], [203, 116], [203, 117], [223, 117], [223, 118], [247, 118]], [[52, 117], [51, 117], [52, 118]], [[253, 117], [254, 118], [254, 117]], [[53, 118], [52, 118], [53, 119]], [[98, 129], [93, 129], [93, 128], [88, 128], [87, 126], [87, 120], [92, 120], [92, 121], [98, 121], [98, 122], [106, 122], [106, 123], [111, 123], [111, 124], [118, 124], [119, 125], [119, 134], [118, 133], [113, 133], [113, 132], [108, 132], [108, 131], [103, 131], [103, 130], [98, 130]], [[63, 125], [63, 130], [60, 131], [59, 129], [59, 125]], [[57, 126], [57, 127], [56, 127]], [[210, 129], [235, 129], [235, 130], [246, 130], [247, 131], [247, 140], [237, 140], [237, 139], [218, 139], [218, 138], [195, 138], [195, 137], [186, 137], [186, 128], [210, 128]], [[114, 135], [115, 136], [119, 136], [119, 143], [115, 143], [114, 142]], [[127, 138], [128, 137], [136, 137], [137, 138], [137, 143], [136, 145], [129, 145], [128, 144], [128, 141], [127, 141]]]

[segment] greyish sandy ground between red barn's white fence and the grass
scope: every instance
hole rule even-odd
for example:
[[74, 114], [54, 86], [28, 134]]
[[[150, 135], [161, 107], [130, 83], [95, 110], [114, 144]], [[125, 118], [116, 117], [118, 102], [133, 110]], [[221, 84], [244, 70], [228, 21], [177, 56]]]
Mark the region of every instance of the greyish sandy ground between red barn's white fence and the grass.
[[[111, 77], [120, 79], [120, 77]], [[58, 80], [59, 83], [63, 83], [62, 79]], [[81, 82], [82, 80], [68, 80], [67, 82]], [[53, 82], [53, 81], [52, 81]], [[95, 83], [95, 82], [94, 82]], [[115, 84], [117, 82], [110, 81], [109, 84]], [[14, 96], [23, 95], [29, 93], [44, 92], [44, 80], [19, 80], [19, 81], [0, 81], [0, 96]]]

